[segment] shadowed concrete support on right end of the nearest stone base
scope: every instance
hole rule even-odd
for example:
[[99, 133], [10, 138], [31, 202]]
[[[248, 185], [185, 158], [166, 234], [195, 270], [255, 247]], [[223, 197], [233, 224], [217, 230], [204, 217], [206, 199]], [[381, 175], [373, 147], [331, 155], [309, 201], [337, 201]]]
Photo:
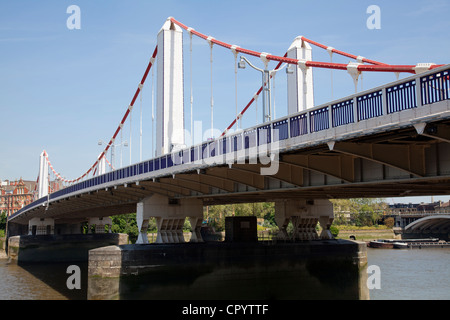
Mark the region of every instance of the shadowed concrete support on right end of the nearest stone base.
[[[327, 199], [275, 201], [275, 221], [280, 229], [280, 239], [288, 238], [286, 228], [289, 221], [294, 227], [294, 240], [333, 239], [330, 232], [333, 219], [333, 204]], [[320, 235], [316, 231], [318, 222], [322, 227]]]

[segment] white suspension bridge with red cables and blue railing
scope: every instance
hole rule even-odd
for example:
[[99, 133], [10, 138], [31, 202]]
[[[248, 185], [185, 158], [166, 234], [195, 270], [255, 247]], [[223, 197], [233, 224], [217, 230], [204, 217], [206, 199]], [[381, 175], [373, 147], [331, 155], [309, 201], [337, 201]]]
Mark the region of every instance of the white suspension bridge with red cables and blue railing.
[[[183, 32], [190, 39], [189, 58], [183, 57]], [[230, 125], [218, 137], [198, 144], [193, 143], [192, 137], [186, 137], [184, 130], [187, 83], [191, 133], [194, 129], [193, 37], [203, 39], [210, 48], [207, 107], [211, 129], [214, 128], [213, 47], [234, 55], [236, 79], [235, 105], [229, 108]], [[334, 63], [332, 59], [313, 61], [312, 47], [326, 50], [330, 57], [341, 55], [354, 61], [347, 64]], [[247, 57], [259, 58], [264, 67], [256, 67]], [[189, 61], [191, 79], [185, 79], [185, 61]], [[268, 68], [271, 61], [277, 63], [273, 70]], [[116, 168], [114, 147], [126, 122], [131, 121], [150, 72], [153, 83], [155, 66], [154, 157], [142, 160], [140, 140], [140, 161]], [[246, 66], [261, 72], [262, 84], [240, 109], [237, 72]], [[275, 118], [272, 79], [282, 69], [287, 78], [288, 115]], [[355, 94], [314, 105], [314, 69], [348, 73]], [[410, 75], [357, 92], [363, 72]], [[193, 229], [191, 241], [202, 241], [203, 206], [273, 201], [281, 236], [286, 236], [286, 226], [292, 222], [294, 237], [298, 239], [329, 239], [333, 221], [329, 199], [448, 194], [449, 72], [450, 65], [382, 63], [303, 36], [294, 40], [285, 55], [277, 56], [217, 40], [170, 17], [158, 33], [157, 46], [144, 75], [104, 150], [75, 179], [67, 179], [56, 171], [49, 154], [43, 151], [38, 197], [8, 217], [9, 235], [77, 233], [80, 223], [85, 221], [101, 230], [104, 224], [111, 223], [109, 216], [136, 212], [138, 243], [148, 243], [146, 231], [152, 217], [157, 221], [159, 243], [183, 242], [182, 226], [186, 218]], [[256, 108], [259, 98], [262, 121], [249, 128], [240, 127], [246, 112], [252, 106]], [[64, 188], [49, 193], [51, 177]], [[320, 235], [315, 231], [318, 222], [323, 227]]]

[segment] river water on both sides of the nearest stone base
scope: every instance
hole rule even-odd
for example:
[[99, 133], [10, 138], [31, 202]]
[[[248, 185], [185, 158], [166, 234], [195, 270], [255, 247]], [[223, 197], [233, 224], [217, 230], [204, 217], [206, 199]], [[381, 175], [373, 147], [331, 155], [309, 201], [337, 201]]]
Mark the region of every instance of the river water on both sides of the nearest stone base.
[[[379, 267], [380, 289], [370, 290], [371, 300], [449, 300], [450, 249], [371, 249], [368, 265]], [[69, 290], [70, 264], [19, 266], [0, 259], [0, 300], [85, 299], [87, 265], [80, 265], [81, 290]]]

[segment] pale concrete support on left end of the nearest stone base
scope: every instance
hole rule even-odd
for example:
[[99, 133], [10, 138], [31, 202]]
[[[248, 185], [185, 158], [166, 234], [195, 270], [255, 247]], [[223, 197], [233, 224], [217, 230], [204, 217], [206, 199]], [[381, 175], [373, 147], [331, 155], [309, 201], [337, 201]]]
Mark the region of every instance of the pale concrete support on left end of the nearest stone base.
[[148, 243], [147, 229], [150, 218], [156, 218], [158, 228], [156, 243], [182, 243], [183, 225], [189, 218], [192, 226], [192, 242], [202, 242], [200, 227], [203, 219], [203, 201], [198, 199], [172, 200], [153, 194], [137, 204], [136, 222], [139, 235], [137, 244]]

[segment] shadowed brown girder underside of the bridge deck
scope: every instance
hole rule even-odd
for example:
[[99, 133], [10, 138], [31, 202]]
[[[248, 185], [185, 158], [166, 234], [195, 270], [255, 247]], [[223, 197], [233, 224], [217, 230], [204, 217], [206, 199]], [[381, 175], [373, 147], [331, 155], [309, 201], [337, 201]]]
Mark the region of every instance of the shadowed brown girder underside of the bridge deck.
[[[157, 177], [107, 185], [51, 201], [14, 218], [71, 223], [86, 217], [136, 212], [152, 194], [169, 199], [200, 198], [204, 205], [275, 201], [448, 195], [450, 192], [450, 121], [437, 120], [388, 132], [289, 149], [278, 162], [233, 163], [184, 169]], [[278, 165], [273, 175], [261, 168]]]

